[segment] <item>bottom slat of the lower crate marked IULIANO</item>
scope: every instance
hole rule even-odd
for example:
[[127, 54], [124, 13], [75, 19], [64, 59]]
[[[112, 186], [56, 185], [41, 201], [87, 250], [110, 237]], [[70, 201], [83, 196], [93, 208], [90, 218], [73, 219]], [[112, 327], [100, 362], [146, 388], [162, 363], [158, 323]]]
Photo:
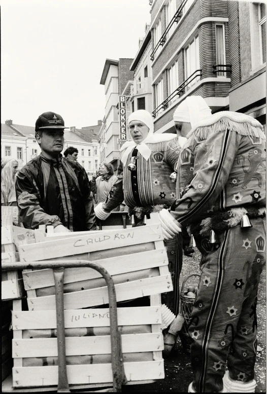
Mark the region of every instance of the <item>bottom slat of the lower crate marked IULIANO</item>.
[[[69, 384], [109, 383], [113, 381], [111, 364], [68, 365]], [[164, 365], [161, 361], [124, 363], [128, 381], [163, 379]], [[13, 386], [48, 386], [58, 382], [57, 366], [13, 368]]]

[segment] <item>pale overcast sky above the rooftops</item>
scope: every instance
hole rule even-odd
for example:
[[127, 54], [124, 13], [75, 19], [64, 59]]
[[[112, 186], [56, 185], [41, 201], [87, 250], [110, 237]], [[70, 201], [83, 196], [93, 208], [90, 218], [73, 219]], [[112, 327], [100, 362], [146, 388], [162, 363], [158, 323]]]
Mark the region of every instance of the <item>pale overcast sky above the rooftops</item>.
[[66, 126], [105, 115], [106, 58], [134, 58], [150, 23], [148, 0], [0, 0], [2, 123], [35, 126], [43, 112]]

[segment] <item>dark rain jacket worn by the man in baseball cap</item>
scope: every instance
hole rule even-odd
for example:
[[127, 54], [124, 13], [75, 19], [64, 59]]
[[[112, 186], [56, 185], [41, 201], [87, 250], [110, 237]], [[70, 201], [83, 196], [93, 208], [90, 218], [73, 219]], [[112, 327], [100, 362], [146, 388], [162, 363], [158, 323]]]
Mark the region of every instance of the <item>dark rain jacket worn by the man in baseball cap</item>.
[[88, 176], [77, 162], [42, 154], [17, 174], [16, 195], [23, 226], [59, 224], [71, 231], [96, 230]]

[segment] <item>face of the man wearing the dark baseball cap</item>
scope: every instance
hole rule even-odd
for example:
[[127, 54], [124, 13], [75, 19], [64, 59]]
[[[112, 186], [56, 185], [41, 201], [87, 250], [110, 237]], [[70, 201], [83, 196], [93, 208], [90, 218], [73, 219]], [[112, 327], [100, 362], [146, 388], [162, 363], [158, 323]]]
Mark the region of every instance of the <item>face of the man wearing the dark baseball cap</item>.
[[36, 140], [40, 145], [42, 153], [48, 157], [54, 158], [59, 155], [64, 146], [64, 130], [63, 129], [43, 129], [43, 135], [36, 136]]

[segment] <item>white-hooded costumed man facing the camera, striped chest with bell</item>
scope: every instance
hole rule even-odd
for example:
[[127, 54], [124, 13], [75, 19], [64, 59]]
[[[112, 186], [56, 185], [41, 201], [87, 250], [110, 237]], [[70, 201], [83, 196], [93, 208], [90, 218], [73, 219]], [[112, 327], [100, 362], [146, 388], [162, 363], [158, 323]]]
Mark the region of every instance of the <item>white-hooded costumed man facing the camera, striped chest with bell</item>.
[[[125, 200], [129, 214], [134, 214], [136, 224], [142, 225], [145, 216], [170, 207], [175, 200], [176, 184], [170, 175], [176, 168], [181, 147], [176, 134], [154, 134], [153, 118], [148, 111], [133, 112], [128, 118], [128, 128], [132, 141], [125, 142], [120, 149], [123, 179], [119, 178], [114, 184], [113, 195], [95, 207], [95, 214], [105, 220], [111, 210]], [[164, 232], [164, 238], [174, 291], [162, 294], [161, 299], [162, 304], [176, 315], [179, 310], [182, 239], [180, 236], [170, 239], [168, 232]]]

